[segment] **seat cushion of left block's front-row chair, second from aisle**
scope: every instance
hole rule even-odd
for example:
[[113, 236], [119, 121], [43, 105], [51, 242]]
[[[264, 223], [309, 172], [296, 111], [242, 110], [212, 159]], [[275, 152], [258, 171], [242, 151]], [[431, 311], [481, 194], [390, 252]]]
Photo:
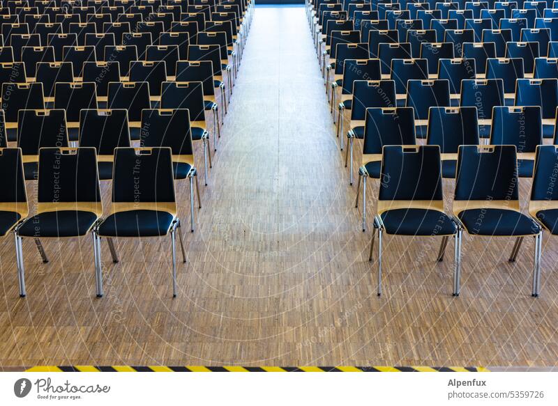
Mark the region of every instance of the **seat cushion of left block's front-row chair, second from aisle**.
[[44, 212], [27, 219], [17, 230], [22, 237], [78, 237], [86, 235], [97, 215], [81, 210]]

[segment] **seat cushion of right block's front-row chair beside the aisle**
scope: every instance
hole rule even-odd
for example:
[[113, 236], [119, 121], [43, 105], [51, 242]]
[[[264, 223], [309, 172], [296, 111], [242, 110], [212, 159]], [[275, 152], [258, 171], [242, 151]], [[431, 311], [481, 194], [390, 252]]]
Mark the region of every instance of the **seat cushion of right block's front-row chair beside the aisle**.
[[453, 235], [457, 226], [447, 214], [428, 209], [394, 209], [380, 217], [386, 233], [396, 235]]

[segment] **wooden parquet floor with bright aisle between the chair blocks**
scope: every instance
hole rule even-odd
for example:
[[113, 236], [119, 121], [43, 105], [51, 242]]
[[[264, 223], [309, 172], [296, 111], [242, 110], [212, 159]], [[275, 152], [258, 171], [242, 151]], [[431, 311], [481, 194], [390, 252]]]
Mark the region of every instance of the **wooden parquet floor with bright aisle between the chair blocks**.
[[[370, 231], [361, 231], [343, 158], [304, 9], [257, 8], [209, 185], [200, 184], [199, 226], [183, 227], [179, 296], [165, 238], [119, 240], [117, 265], [103, 242], [105, 297], [97, 299], [86, 238], [45, 241], [47, 265], [24, 241], [28, 296], [20, 299], [6, 237], [0, 367], [558, 367], [558, 239], [545, 235], [542, 296], [533, 299], [532, 241], [511, 264], [513, 241], [465, 237], [454, 298], [452, 245], [436, 263], [439, 240], [387, 238], [377, 297]], [[198, 166], [203, 173], [202, 159]], [[520, 183], [525, 203], [530, 185]], [[187, 224], [188, 185], [177, 189]], [[444, 181], [446, 194], [452, 189]], [[110, 183], [103, 191], [107, 202]]]

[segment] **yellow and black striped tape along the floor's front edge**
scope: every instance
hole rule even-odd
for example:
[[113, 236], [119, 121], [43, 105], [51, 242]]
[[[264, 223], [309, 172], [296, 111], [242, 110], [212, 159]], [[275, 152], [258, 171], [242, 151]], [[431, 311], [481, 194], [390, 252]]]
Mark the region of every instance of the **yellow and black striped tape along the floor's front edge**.
[[482, 366], [33, 366], [27, 372], [488, 372]]

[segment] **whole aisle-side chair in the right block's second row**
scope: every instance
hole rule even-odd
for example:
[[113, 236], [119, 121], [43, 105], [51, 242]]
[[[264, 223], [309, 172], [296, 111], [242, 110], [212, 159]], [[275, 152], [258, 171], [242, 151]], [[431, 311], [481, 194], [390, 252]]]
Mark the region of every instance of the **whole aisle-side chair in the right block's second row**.
[[381, 177], [382, 148], [386, 145], [415, 145], [414, 112], [411, 107], [366, 109], [362, 165], [355, 205], [358, 206], [362, 178], [362, 229], [366, 230], [366, 180]]

